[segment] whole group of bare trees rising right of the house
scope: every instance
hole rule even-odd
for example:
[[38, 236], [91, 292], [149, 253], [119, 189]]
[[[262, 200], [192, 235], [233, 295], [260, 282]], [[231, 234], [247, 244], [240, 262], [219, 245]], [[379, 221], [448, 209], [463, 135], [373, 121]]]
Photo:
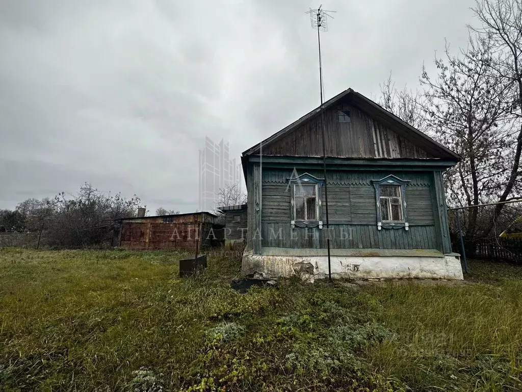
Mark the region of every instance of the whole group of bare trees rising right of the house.
[[[435, 74], [422, 68], [416, 91], [397, 89], [390, 75], [379, 102], [462, 157], [445, 175], [454, 207], [522, 197], [522, 2], [477, 0], [472, 10], [477, 23], [468, 26], [466, 48], [452, 54], [446, 44], [444, 55], [435, 57]], [[463, 210], [465, 234], [497, 235], [521, 208]]]

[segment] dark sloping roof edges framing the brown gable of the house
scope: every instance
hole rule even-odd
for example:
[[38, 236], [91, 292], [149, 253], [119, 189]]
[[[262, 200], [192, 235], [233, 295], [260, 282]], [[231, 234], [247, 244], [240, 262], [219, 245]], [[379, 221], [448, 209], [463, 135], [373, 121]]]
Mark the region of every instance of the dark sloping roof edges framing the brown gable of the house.
[[[424, 151], [430, 152], [435, 157], [455, 160], [457, 162], [460, 160], [460, 156], [455, 152], [451, 151], [449, 148], [431, 139], [431, 137], [425, 135], [418, 129], [413, 128], [413, 126], [406, 123], [405, 121], [402, 121], [400, 118], [395, 116], [395, 114], [387, 111], [382, 106], [378, 105], [376, 102], [372, 101], [369, 98], [366, 98], [362, 94], [357, 93], [357, 91], [354, 91], [351, 88], [342, 91], [342, 93], [337, 94], [335, 97], [330, 98], [329, 100], [324, 102], [323, 110], [327, 110], [328, 108], [334, 106], [342, 99], [349, 99], [355, 107], [358, 107], [362, 111], [366, 112], [367, 114], [369, 114], [369, 116], [381, 122], [383, 125], [387, 126], [389, 129], [396, 132], [397, 134], [407, 137], [411, 143], [421, 147], [422, 149], [424, 149]], [[321, 107], [319, 106], [314, 110], [310, 111], [309, 113], [305, 114], [299, 120], [294, 121], [290, 125], [286, 126], [279, 132], [271, 135], [270, 137], [267, 137], [267, 139], [263, 140], [261, 143], [264, 146], [266, 146], [278, 141], [279, 139], [281, 139], [281, 137], [288, 134], [289, 132], [297, 128], [299, 125], [303, 124], [307, 120], [312, 119], [320, 111]], [[246, 151], [243, 152], [242, 155], [258, 155], [259, 144], [260, 143], [257, 143], [256, 145], [248, 148]]]

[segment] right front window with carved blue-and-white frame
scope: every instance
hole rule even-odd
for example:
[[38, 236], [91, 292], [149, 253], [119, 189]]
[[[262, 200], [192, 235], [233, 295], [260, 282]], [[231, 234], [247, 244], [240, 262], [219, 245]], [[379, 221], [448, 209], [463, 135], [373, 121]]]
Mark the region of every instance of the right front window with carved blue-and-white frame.
[[375, 187], [377, 229], [404, 227], [405, 230], [409, 230], [406, 184], [410, 181], [389, 175], [372, 182]]

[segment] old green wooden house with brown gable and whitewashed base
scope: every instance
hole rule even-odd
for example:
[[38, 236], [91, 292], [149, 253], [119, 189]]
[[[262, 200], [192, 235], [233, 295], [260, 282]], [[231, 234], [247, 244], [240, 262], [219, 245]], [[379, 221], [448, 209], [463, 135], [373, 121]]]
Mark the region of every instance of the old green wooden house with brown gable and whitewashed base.
[[[242, 154], [243, 272], [462, 279], [442, 174], [460, 157], [352, 89]], [[326, 167], [326, 182], [324, 166]], [[328, 223], [326, 203], [328, 198]]]

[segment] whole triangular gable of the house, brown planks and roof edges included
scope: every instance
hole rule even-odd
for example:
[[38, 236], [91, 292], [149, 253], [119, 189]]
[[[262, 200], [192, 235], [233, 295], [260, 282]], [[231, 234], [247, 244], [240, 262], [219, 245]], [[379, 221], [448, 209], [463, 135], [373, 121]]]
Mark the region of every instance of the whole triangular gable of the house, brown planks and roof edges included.
[[[324, 103], [325, 149], [330, 157], [460, 157], [352, 89]], [[322, 156], [319, 108], [262, 142], [263, 155]], [[258, 155], [259, 144], [243, 155]]]

